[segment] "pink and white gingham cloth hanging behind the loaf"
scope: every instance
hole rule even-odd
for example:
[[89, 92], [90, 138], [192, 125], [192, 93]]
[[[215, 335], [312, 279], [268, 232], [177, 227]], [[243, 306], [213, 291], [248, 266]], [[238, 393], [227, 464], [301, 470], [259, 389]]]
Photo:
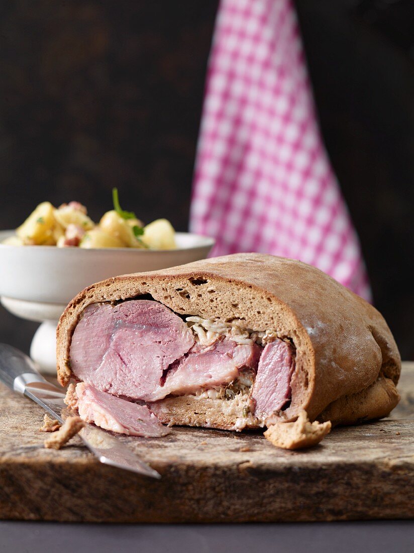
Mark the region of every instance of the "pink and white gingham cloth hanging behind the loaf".
[[300, 259], [370, 300], [357, 234], [319, 132], [290, 0], [222, 0], [191, 202], [212, 255]]

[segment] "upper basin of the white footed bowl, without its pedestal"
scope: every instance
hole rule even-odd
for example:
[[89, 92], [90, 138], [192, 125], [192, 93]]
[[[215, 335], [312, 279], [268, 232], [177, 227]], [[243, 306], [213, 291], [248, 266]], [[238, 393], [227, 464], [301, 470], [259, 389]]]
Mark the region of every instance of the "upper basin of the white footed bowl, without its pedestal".
[[[13, 231], [0, 231], [0, 242]], [[57, 248], [0, 243], [0, 296], [68, 304], [86, 286], [111, 276], [165, 269], [204, 259], [214, 240], [176, 233], [177, 249]]]

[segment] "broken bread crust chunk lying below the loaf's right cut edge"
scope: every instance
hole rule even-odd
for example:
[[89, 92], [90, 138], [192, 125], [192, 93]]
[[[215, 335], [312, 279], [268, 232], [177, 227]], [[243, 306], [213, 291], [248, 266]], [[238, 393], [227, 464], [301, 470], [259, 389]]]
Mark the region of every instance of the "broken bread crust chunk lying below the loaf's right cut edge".
[[323, 439], [331, 431], [331, 421], [322, 424], [309, 422], [308, 415], [302, 410], [295, 422], [276, 422], [269, 426], [264, 436], [274, 446], [295, 450], [311, 447]]

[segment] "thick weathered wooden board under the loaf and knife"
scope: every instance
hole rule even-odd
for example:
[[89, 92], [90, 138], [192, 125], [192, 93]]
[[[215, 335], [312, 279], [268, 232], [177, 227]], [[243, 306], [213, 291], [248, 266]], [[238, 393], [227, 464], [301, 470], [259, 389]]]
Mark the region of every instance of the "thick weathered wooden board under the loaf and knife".
[[44, 411], [0, 386], [0, 518], [229, 522], [414, 518], [414, 363], [390, 419], [277, 450], [259, 432], [176, 428], [119, 437], [161, 481], [101, 465], [72, 440], [43, 448]]

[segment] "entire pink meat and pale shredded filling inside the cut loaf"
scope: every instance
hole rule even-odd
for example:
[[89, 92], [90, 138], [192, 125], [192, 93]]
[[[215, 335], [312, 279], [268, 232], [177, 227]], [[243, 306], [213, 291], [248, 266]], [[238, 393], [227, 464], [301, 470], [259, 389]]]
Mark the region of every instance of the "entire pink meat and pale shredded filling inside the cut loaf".
[[184, 321], [151, 300], [86, 307], [70, 357], [91, 389], [148, 402], [212, 390], [224, 390], [225, 399], [248, 394], [259, 420], [289, 404], [295, 369], [291, 343], [272, 331], [251, 331], [243, 321]]

